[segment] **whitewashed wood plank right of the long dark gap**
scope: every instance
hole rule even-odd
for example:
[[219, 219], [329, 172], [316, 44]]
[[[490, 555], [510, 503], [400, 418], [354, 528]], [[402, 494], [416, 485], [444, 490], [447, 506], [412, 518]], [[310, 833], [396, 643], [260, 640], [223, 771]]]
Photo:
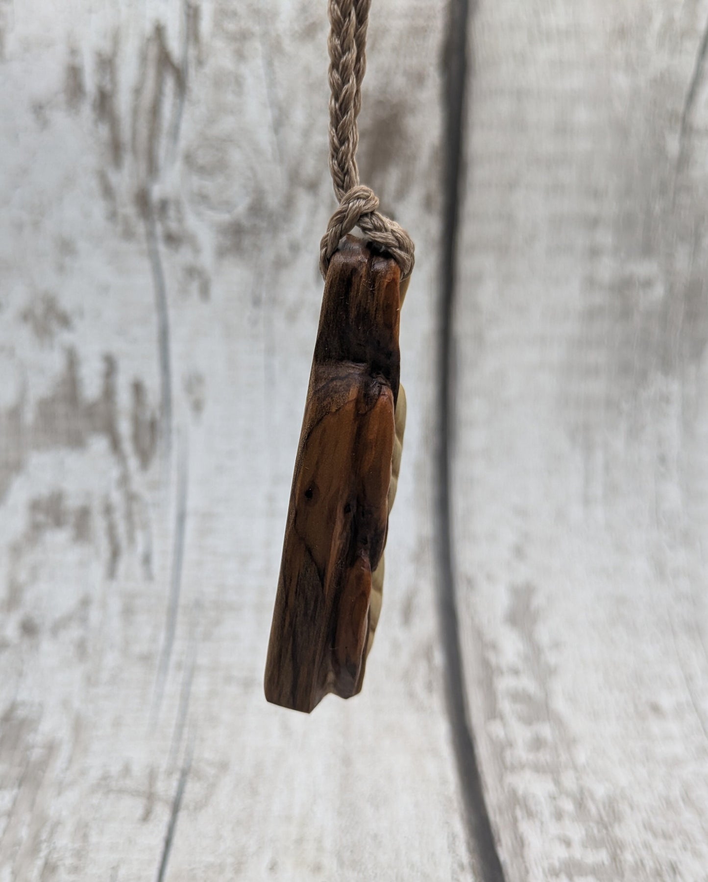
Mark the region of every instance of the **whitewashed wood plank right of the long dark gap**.
[[502, 861], [704, 879], [708, 4], [474, 6], [454, 523]]

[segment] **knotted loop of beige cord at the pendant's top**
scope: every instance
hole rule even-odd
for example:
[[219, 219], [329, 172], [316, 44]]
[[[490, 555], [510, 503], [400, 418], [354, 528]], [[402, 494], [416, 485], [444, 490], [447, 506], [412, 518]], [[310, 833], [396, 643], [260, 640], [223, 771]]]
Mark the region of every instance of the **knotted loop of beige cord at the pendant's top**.
[[370, 187], [358, 183], [343, 193], [339, 207], [329, 219], [320, 243], [320, 273], [327, 279], [329, 261], [343, 237], [358, 227], [369, 242], [388, 251], [401, 267], [401, 278], [413, 271], [415, 246], [410, 235], [390, 218], [379, 213], [379, 198]]

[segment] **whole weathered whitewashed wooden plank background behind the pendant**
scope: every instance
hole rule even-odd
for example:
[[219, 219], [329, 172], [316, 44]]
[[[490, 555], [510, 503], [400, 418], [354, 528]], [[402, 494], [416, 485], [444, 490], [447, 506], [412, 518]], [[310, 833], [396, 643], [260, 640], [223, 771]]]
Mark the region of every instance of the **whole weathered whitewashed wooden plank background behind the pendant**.
[[[262, 695], [325, 7], [0, 0], [0, 882], [485, 882], [436, 600], [446, 3], [372, 11], [360, 168], [418, 248], [365, 689]], [[707, 23], [469, 11], [453, 571], [508, 882], [708, 879]]]

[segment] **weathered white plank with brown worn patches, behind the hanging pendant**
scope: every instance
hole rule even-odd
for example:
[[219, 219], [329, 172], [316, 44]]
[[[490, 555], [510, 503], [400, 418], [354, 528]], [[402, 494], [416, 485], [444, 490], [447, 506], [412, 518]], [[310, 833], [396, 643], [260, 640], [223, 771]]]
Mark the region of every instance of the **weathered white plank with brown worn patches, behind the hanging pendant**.
[[334, 207], [324, 4], [0, 22], [0, 880], [158, 878], [176, 806], [172, 882], [469, 878], [431, 554], [441, 10], [373, 9], [409, 422], [365, 690], [311, 717], [261, 680]]

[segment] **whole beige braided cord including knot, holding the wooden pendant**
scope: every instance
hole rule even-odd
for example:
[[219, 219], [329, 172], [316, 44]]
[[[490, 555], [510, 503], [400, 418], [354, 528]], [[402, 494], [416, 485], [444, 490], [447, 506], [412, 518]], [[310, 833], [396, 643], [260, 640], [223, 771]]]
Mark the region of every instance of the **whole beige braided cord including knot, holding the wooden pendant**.
[[320, 272], [327, 278], [329, 261], [343, 236], [357, 227], [388, 251], [406, 279], [413, 270], [413, 242], [395, 221], [379, 213], [379, 199], [359, 183], [357, 118], [361, 82], [366, 71], [366, 28], [371, 0], [329, 0], [329, 171], [339, 207], [329, 219], [320, 243]]

